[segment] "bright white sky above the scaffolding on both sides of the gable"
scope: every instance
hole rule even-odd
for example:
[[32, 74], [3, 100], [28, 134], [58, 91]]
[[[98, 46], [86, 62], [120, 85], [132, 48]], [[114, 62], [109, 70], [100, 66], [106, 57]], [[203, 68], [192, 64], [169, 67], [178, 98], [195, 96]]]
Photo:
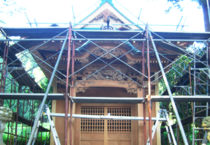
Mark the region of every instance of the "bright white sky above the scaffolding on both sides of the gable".
[[[78, 23], [95, 10], [101, 0], [7, 0], [6, 2], [10, 6], [0, 5], [0, 17], [4, 22], [0, 25], [3, 27], [49, 27], [52, 23], [67, 27], [69, 22]], [[192, 0], [184, 0], [181, 3], [183, 11], [172, 8], [169, 13], [166, 10], [172, 4], [167, 0], [112, 0], [112, 2], [134, 23], [142, 27], [148, 23], [154, 31], [204, 31], [202, 8]], [[5, 0], [0, 0], [0, 3], [5, 3]]]

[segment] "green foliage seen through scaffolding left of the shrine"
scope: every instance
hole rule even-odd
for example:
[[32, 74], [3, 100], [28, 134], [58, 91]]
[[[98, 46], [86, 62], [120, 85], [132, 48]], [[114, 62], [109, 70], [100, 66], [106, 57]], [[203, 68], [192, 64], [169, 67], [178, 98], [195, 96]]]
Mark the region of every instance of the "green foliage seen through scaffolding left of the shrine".
[[[44, 76], [43, 72], [33, 59], [32, 55], [29, 53], [29, 51], [23, 51], [17, 55], [17, 57], [21, 60], [23, 67], [25, 68], [25, 71], [35, 79], [35, 81], [40, 85], [40, 87], [46, 91], [47, 85], [48, 85], [48, 79]], [[3, 60], [0, 58], [0, 61]], [[17, 81], [11, 76], [11, 74], [7, 73], [6, 75], [6, 81], [5, 81], [5, 92], [7, 93], [31, 93], [30, 88], [27, 86], [20, 86]], [[50, 92], [52, 92], [52, 88], [50, 89]], [[4, 106], [11, 108], [13, 112], [17, 113], [18, 108], [18, 115], [20, 117], [23, 117], [27, 120], [34, 120], [36, 116], [36, 112], [38, 111], [39, 100], [4, 100]], [[51, 106], [51, 102], [48, 102], [48, 106]], [[15, 119], [14, 119], [15, 120]], [[43, 121], [46, 119], [44, 118]], [[22, 123], [17, 124], [17, 135], [18, 138], [14, 136], [15, 134], [15, 126], [16, 122], [10, 122], [7, 124], [7, 127], [5, 129], [4, 133], [4, 142], [11, 141], [11, 144], [14, 144], [15, 141], [17, 141], [17, 144], [26, 144], [28, 137], [31, 132], [31, 126], [23, 125]], [[49, 129], [48, 123], [42, 123], [42, 126], [44, 128]], [[13, 135], [8, 135], [7, 132], [12, 133]], [[36, 144], [49, 144], [49, 138], [50, 134], [49, 132], [39, 132], [37, 142]]]

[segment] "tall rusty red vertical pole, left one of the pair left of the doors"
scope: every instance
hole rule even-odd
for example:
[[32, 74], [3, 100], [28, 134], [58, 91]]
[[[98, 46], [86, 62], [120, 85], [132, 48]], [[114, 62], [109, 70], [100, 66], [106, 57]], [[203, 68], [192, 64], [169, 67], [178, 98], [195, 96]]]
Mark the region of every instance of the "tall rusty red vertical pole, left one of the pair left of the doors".
[[68, 56], [67, 56], [67, 66], [66, 66], [66, 92], [65, 92], [65, 145], [68, 145], [68, 113], [69, 113], [69, 99], [68, 99], [68, 89], [69, 89], [69, 69], [70, 69], [70, 58], [71, 58], [71, 25], [69, 26], [69, 38], [68, 38]]

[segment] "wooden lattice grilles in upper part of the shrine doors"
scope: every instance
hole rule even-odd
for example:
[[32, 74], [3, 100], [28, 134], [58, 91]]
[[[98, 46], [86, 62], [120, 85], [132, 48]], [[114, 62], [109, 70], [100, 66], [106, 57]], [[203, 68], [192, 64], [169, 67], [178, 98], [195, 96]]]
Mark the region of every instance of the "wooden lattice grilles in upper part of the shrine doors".
[[[107, 113], [105, 113], [107, 112]], [[101, 106], [82, 106], [81, 114], [85, 115], [112, 115], [112, 116], [131, 116], [130, 107], [101, 107]], [[103, 132], [105, 121], [101, 119], [81, 119], [82, 132]], [[108, 132], [130, 132], [130, 120], [107, 120]]]

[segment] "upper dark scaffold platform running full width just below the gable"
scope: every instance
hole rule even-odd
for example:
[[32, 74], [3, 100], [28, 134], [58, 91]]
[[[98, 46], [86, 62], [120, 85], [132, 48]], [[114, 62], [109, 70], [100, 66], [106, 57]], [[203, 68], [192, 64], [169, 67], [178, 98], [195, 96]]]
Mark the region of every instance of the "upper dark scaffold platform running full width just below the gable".
[[[7, 36], [20, 36], [23, 38], [51, 38], [62, 32], [67, 32], [68, 28], [3, 28]], [[142, 39], [143, 31], [119, 31], [119, 30], [77, 30], [73, 29], [77, 38], [86, 39]], [[64, 36], [63, 33], [60, 36]], [[81, 35], [78, 35], [81, 34]], [[204, 41], [210, 38], [209, 32], [152, 32], [154, 39], [167, 39], [177, 41]], [[84, 36], [84, 37], [83, 37]]]

